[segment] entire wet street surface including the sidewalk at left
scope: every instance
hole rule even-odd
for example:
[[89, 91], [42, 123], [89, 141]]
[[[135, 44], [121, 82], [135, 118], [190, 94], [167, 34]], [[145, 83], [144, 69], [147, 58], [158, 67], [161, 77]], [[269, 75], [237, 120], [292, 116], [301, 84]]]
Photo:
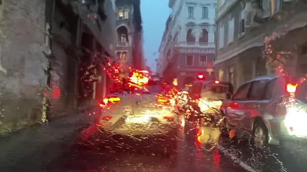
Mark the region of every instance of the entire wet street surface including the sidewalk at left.
[[[146, 107], [156, 103], [144, 95]], [[136, 99], [133, 98], [133, 101]], [[131, 104], [122, 100], [122, 104]], [[114, 106], [116, 107], [116, 106]], [[109, 112], [116, 111], [110, 109]], [[166, 135], [108, 134], [99, 111], [82, 113], [2, 140], [2, 171], [304, 171], [305, 143], [255, 148], [220, 138], [213, 148], [182, 129]], [[163, 111], [161, 111], [163, 112]], [[67, 123], [65, 123], [65, 121]], [[209, 132], [217, 132], [208, 128]], [[216, 134], [219, 134], [218, 132]], [[211, 135], [214, 135], [211, 133]], [[28, 141], [26, 141], [28, 140]], [[45, 141], [43, 141], [45, 140]], [[14, 143], [13, 143], [14, 142]], [[20, 145], [23, 144], [23, 145]], [[25, 146], [27, 144], [28, 146]], [[8, 147], [9, 146], [9, 147]], [[165, 154], [164, 148], [171, 147]], [[27, 149], [25, 149], [27, 147]]]

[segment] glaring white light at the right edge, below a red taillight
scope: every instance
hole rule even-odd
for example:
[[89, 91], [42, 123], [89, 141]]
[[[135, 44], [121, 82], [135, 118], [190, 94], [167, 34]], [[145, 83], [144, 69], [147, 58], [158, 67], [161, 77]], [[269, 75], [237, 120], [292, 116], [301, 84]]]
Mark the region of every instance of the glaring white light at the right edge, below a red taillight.
[[303, 109], [291, 107], [285, 117], [285, 126], [291, 135], [307, 136], [307, 113]]

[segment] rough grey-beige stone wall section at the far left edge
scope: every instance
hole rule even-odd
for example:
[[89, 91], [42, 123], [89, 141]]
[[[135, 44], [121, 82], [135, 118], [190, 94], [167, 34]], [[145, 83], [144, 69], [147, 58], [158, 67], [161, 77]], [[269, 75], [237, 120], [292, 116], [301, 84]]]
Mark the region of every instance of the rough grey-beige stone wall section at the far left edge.
[[[36, 121], [46, 86], [42, 0], [3, 0], [0, 19], [0, 121]], [[1, 124], [0, 124], [1, 125]]]

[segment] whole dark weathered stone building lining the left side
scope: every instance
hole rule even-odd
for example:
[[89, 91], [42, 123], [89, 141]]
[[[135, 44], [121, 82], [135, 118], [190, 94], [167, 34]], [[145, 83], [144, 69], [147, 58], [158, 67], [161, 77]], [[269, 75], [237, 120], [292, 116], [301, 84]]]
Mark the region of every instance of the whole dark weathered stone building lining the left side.
[[[107, 89], [101, 65], [115, 56], [111, 0], [0, 2], [0, 128], [101, 100]], [[87, 88], [80, 86], [84, 62], [95, 65], [90, 77], [97, 80]], [[84, 96], [85, 90], [92, 92]]]

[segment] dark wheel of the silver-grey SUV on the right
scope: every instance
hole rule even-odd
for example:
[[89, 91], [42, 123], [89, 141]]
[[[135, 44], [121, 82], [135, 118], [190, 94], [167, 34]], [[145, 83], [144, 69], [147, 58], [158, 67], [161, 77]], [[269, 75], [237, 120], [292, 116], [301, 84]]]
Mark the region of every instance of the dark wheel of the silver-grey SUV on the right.
[[268, 129], [263, 122], [257, 122], [253, 129], [253, 144], [265, 146], [268, 144]]

